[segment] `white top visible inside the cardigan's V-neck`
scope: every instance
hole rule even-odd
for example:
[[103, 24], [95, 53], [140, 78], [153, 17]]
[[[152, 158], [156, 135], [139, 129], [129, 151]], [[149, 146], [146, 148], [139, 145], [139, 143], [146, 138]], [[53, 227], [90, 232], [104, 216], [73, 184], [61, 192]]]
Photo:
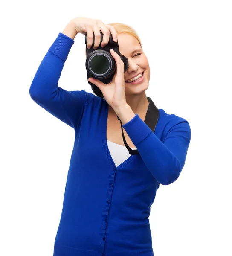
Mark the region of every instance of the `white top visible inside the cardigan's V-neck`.
[[[110, 151], [110, 155], [116, 165], [119, 166], [121, 163], [123, 163], [125, 160], [128, 159], [131, 155], [128, 152], [128, 149], [126, 146], [122, 146], [119, 144], [116, 144], [110, 140], [107, 140], [108, 148]], [[131, 148], [131, 149], [137, 149], [137, 148]]]

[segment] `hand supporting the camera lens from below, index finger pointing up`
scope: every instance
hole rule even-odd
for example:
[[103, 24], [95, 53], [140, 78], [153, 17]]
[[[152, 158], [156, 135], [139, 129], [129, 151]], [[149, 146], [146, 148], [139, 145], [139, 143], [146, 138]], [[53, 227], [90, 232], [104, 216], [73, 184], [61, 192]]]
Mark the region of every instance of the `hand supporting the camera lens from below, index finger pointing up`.
[[116, 73], [113, 76], [112, 81], [109, 84], [104, 84], [102, 81], [94, 79], [93, 77], [90, 77], [88, 81], [99, 87], [107, 103], [113, 109], [117, 109], [127, 105], [125, 94], [124, 63], [113, 49], [110, 49], [110, 54], [116, 61]]

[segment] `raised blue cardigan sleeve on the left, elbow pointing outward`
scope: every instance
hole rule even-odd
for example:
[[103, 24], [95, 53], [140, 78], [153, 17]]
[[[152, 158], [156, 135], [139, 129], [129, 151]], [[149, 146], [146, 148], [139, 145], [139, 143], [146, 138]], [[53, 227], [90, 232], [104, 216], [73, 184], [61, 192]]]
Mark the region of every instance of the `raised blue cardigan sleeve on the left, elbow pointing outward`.
[[59, 33], [35, 73], [29, 94], [46, 111], [75, 128], [84, 111], [86, 92], [67, 91], [58, 87], [58, 80], [73, 44], [72, 38]]

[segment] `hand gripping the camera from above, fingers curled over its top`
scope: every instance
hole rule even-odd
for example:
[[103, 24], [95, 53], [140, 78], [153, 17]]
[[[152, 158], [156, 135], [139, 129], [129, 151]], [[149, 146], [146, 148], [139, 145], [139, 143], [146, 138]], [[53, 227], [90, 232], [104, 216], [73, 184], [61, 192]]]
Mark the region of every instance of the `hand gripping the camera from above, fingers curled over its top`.
[[94, 47], [97, 49], [101, 43], [101, 33], [103, 33], [103, 39], [101, 47], [105, 47], [110, 39], [110, 32], [113, 36], [113, 41], [117, 42], [117, 32], [116, 29], [108, 24], [104, 24], [102, 20], [90, 19], [87, 17], [76, 17], [72, 20], [74, 23], [77, 33], [86, 34], [87, 33], [87, 47], [90, 49], [93, 45], [93, 33], [94, 33]]

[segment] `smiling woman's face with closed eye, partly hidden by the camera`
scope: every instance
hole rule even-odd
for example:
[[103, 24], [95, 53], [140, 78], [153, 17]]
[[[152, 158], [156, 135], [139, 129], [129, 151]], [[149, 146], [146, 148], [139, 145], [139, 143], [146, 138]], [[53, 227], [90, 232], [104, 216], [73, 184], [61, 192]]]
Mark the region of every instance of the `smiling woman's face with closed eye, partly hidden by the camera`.
[[[132, 35], [118, 34], [119, 51], [128, 58], [129, 68], [124, 73], [125, 93], [127, 95], [139, 94], [147, 90], [150, 81], [150, 67], [148, 59], [143, 52], [139, 41]], [[136, 52], [133, 52], [135, 51]], [[140, 73], [143, 73], [143, 81], [139, 84], [130, 84], [127, 81]]]

